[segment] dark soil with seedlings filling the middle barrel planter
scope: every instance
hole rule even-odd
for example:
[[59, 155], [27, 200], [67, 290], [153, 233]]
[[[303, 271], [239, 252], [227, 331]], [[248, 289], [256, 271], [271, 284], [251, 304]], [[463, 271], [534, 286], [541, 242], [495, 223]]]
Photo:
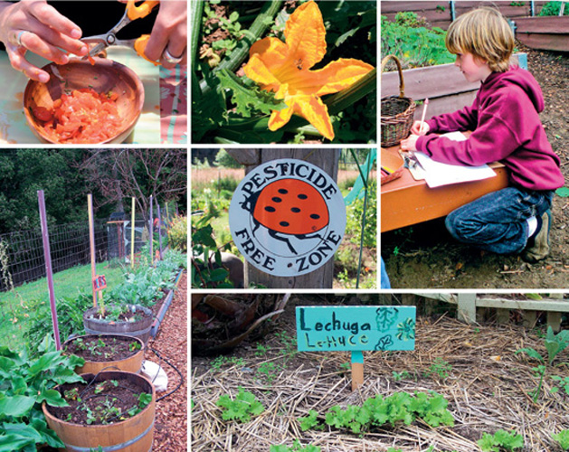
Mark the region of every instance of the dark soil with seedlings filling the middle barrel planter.
[[71, 339], [65, 352], [85, 361], [109, 362], [124, 360], [138, 353], [140, 348], [140, 343], [128, 336], [99, 335]]

